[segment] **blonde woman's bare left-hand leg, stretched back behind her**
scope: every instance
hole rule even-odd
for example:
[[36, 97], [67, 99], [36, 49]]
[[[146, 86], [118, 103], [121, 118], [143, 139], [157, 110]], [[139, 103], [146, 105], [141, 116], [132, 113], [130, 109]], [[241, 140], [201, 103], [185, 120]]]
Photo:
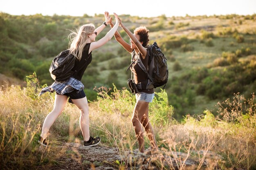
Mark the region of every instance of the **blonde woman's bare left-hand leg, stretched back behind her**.
[[53, 110], [46, 116], [45, 121], [43, 123], [41, 137], [45, 139], [47, 137], [47, 133], [49, 132], [50, 127], [55, 122], [55, 120], [58, 118], [58, 116], [63, 111], [65, 105], [67, 103], [67, 96], [64, 95], [55, 95], [54, 100], [54, 108]]

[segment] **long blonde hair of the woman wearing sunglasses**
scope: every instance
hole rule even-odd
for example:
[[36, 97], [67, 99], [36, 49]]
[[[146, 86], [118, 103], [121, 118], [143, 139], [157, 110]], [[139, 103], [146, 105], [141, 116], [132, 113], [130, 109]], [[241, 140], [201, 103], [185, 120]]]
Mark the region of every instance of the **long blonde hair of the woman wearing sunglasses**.
[[83, 48], [86, 45], [88, 35], [95, 30], [94, 24], [82, 25], [76, 32], [72, 31], [68, 38], [70, 39], [70, 54], [73, 54], [79, 61], [82, 58]]

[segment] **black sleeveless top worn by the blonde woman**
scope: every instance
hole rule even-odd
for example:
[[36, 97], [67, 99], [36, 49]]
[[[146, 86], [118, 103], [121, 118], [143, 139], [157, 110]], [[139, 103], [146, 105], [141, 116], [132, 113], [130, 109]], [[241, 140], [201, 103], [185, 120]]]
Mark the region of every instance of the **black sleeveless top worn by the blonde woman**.
[[81, 60], [79, 61], [78, 59], [76, 59], [75, 65], [72, 68], [72, 70], [75, 71], [74, 78], [79, 81], [81, 81], [85, 69], [92, 61], [92, 52], [88, 54], [90, 45], [91, 43], [85, 45]]

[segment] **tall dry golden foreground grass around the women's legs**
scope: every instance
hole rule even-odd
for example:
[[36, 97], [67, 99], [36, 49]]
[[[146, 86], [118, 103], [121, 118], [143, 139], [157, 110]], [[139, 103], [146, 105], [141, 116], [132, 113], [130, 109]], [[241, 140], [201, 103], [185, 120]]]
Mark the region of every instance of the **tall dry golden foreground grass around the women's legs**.
[[[233, 99], [219, 103], [217, 116], [205, 110], [203, 116], [187, 115], [183, 122], [177, 122], [173, 119], [175, 113], [168, 105], [166, 92], [156, 93], [157, 98], [150, 103], [149, 118], [160, 152], [149, 155], [150, 159], [141, 161], [144, 159], [141, 157], [133, 161], [136, 159], [131, 160], [127, 153], [138, 148], [130, 121], [135, 96], [128, 90], [115, 88], [110, 93], [106, 87], [97, 89], [98, 100], [89, 103], [90, 135], [100, 136], [101, 144], [94, 147], [97, 152], [88, 154], [88, 149], [81, 145], [79, 109], [70, 103], [49, 131], [50, 146], [38, 144], [44, 118], [54, 104], [54, 94], [36, 95], [41, 88], [36, 76], [32, 75], [27, 78], [26, 88], [16, 85], [0, 90], [2, 169], [93, 169], [99, 166], [146, 169], [146, 164], [149, 169], [256, 168], [255, 95], [244, 98], [236, 94]], [[145, 139], [148, 148], [150, 142], [146, 134]], [[70, 147], [67, 149], [67, 146]], [[114, 149], [106, 153], [110, 147]], [[99, 148], [107, 149], [103, 153]], [[122, 158], [108, 161], [104, 155]], [[133, 157], [140, 155], [133, 154]], [[185, 163], [187, 161], [189, 163]]]

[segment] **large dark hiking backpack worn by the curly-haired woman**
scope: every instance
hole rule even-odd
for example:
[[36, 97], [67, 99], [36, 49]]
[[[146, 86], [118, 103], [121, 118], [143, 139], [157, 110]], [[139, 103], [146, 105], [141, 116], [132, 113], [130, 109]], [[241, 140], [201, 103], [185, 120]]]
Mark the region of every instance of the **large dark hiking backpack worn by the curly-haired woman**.
[[[154, 42], [152, 45], [148, 45], [147, 50], [149, 52], [148, 59], [148, 71], [141, 62], [140, 57], [137, 59], [139, 67], [148, 74], [148, 80], [137, 84], [138, 89], [152, 89], [164, 85], [166, 86], [168, 81], [168, 67], [167, 59], [161, 51], [161, 48]], [[132, 60], [135, 56], [135, 52], [132, 52]], [[132, 65], [133, 63], [131, 63]], [[130, 65], [130, 66], [131, 66]], [[130, 68], [130, 67], [129, 67]], [[128, 69], [127, 69], [128, 70]]]

